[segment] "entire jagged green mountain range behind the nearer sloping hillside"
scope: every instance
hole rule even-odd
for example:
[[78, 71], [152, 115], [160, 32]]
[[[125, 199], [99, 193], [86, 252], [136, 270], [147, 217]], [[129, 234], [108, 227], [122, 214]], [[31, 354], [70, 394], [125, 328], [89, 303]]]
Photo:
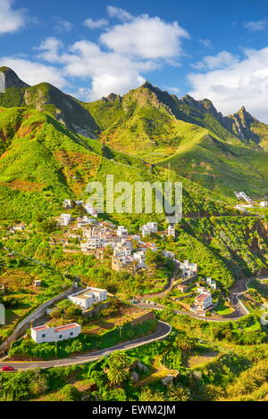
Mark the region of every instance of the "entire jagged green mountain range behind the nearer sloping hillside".
[[[233, 198], [268, 193], [268, 126], [245, 107], [223, 116], [209, 99], [178, 98], [149, 82], [84, 103], [48, 84], [28, 86], [0, 68], [0, 106], [45, 111], [76, 134], [175, 172]], [[4, 80], [4, 81], [3, 81]]]

